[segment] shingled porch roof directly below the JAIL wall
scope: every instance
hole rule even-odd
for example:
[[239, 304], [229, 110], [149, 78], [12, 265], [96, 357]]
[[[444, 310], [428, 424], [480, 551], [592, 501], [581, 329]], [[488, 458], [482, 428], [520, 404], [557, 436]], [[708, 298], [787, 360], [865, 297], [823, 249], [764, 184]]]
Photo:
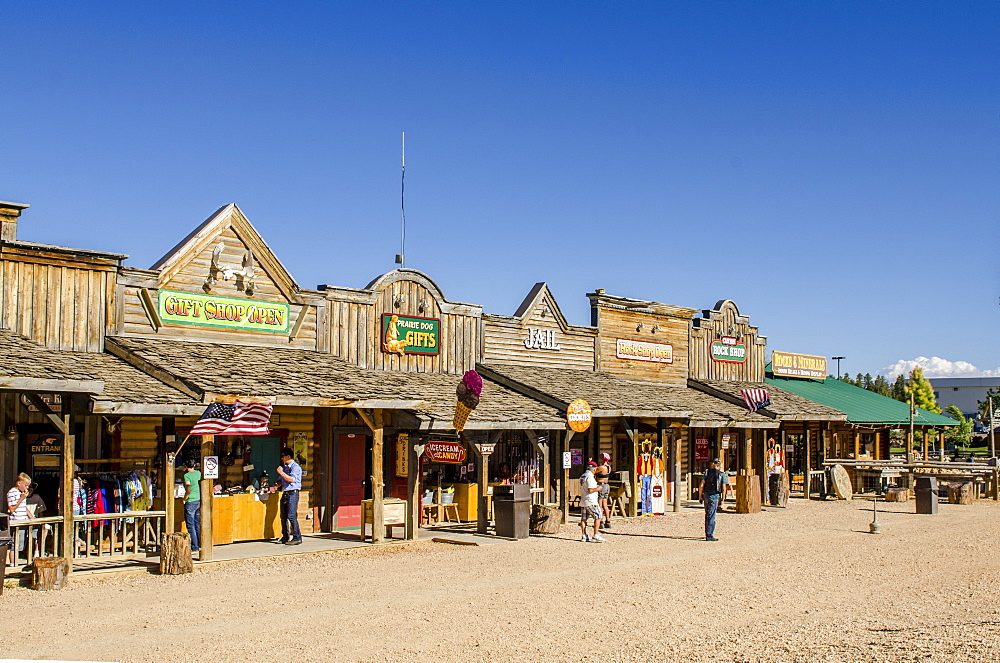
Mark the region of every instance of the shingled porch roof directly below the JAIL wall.
[[777, 428], [778, 422], [746, 407], [687, 387], [639, 382], [610, 373], [490, 364], [477, 366], [484, 377], [565, 410], [577, 398], [587, 401], [595, 417], [666, 417], [689, 419], [691, 426]]

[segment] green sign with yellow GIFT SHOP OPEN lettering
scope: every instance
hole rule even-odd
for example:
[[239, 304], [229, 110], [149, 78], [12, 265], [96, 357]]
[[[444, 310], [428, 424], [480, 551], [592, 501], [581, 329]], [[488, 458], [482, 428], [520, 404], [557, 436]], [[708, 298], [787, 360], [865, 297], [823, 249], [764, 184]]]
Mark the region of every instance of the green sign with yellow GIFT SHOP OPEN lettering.
[[288, 333], [288, 304], [160, 290], [158, 308], [163, 322], [175, 325], [225, 327]]

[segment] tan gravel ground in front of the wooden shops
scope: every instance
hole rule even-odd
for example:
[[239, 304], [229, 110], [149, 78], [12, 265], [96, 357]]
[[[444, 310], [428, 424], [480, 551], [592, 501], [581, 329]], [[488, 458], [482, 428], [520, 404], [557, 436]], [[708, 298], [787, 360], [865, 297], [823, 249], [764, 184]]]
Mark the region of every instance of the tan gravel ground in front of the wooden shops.
[[1000, 505], [792, 502], [616, 523], [608, 543], [432, 542], [8, 589], [0, 658], [993, 661]]

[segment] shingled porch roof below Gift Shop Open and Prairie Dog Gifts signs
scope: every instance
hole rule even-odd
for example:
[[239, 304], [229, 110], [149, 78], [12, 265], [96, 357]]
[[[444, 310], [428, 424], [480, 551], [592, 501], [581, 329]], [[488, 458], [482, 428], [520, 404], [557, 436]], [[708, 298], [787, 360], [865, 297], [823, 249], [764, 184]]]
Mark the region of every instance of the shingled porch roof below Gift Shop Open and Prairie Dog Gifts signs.
[[[204, 402], [257, 396], [277, 405], [413, 411], [420, 428], [448, 430], [458, 375], [375, 371], [322, 352], [154, 338], [109, 338], [110, 352]], [[552, 406], [488, 382], [467, 428], [560, 429]]]

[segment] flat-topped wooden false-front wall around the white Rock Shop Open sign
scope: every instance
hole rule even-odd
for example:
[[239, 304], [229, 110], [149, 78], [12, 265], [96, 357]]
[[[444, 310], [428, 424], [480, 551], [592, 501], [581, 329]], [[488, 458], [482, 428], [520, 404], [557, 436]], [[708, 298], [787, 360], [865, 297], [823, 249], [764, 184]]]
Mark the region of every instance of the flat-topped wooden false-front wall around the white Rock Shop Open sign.
[[[592, 323], [598, 329], [598, 370], [636, 380], [687, 385], [688, 336], [695, 309], [615, 297], [603, 290], [587, 297]], [[662, 355], [662, 361], [625, 358], [628, 352], [620, 350], [619, 341], [652, 344], [644, 347], [669, 352], [669, 360]]]

